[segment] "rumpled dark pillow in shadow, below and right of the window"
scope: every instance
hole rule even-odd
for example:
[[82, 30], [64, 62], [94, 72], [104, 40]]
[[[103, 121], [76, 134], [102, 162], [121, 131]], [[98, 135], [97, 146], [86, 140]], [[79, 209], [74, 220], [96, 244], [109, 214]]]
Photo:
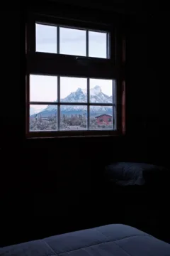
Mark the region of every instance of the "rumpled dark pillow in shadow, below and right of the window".
[[170, 171], [162, 166], [131, 162], [109, 164], [105, 174], [107, 180], [119, 186], [166, 183], [170, 178]]

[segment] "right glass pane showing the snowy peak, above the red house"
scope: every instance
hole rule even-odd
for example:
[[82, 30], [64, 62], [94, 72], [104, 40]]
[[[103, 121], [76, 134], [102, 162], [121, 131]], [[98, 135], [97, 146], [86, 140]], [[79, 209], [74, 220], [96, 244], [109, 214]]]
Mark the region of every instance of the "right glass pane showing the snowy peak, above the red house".
[[90, 102], [112, 103], [113, 80], [90, 79]]

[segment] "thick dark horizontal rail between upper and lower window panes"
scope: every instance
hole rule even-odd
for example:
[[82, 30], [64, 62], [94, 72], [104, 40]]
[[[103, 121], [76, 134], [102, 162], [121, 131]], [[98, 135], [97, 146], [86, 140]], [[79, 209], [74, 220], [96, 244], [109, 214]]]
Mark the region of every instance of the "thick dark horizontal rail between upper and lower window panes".
[[113, 65], [111, 60], [77, 58], [77, 56], [73, 55], [55, 55], [53, 53], [28, 53], [27, 71], [28, 73], [40, 75], [64, 75], [116, 80], [120, 76], [119, 68]]

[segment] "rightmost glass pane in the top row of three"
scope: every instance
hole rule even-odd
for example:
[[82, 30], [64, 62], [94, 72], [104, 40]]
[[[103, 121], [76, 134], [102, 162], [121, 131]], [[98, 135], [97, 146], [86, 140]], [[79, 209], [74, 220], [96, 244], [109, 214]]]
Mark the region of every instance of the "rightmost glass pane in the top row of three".
[[107, 58], [107, 33], [89, 31], [89, 57]]

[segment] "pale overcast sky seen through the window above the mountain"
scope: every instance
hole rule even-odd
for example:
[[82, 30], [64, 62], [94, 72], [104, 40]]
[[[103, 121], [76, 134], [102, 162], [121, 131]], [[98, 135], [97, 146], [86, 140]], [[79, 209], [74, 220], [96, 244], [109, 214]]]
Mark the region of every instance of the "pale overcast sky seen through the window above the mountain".
[[[36, 51], [57, 53], [57, 27], [36, 24]], [[60, 28], [60, 53], [86, 55], [86, 31]], [[106, 58], [106, 33], [89, 31], [89, 56]], [[86, 78], [61, 78], [61, 98], [79, 87], [86, 89]], [[99, 85], [103, 93], [112, 95], [111, 80], [90, 80], [90, 87]], [[30, 101], [57, 100], [57, 77], [30, 75]]]

